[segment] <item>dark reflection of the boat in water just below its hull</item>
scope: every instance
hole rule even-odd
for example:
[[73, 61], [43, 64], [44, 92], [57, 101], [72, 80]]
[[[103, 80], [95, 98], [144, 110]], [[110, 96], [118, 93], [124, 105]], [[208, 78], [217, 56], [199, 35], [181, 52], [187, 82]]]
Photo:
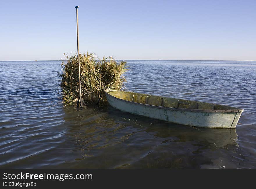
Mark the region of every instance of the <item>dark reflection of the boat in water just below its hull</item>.
[[[192, 126], [169, 123], [162, 120], [145, 118], [143, 116], [128, 114], [114, 108], [109, 108], [109, 117], [118, 120], [125, 118], [129, 126], [143, 128], [145, 132], [152, 133], [155, 137], [167, 139], [176, 138], [173, 142], [197, 141], [212, 147], [238, 146], [236, 129], [195, 129]], [[139, 126], [140, 125], [140, 126]]]

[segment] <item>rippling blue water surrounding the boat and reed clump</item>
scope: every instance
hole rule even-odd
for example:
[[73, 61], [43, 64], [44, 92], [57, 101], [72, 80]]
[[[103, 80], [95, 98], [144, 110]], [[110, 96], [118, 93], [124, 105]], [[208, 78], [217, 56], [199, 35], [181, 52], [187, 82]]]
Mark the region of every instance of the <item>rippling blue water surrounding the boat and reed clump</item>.
[[61, 61], [0, 62], [0, 168], [256, 168], [256, 62], [127, 62], [129, 91], [243, 108], [237, 128], [63, 107]]

